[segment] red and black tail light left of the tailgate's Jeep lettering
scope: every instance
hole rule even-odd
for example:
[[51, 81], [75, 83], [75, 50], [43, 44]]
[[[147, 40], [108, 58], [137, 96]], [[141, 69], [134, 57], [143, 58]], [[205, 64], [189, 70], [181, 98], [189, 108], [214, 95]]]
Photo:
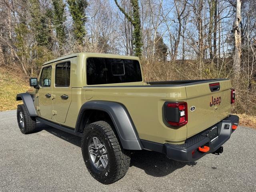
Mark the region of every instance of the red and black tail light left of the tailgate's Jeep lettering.
[[165, 119], [172, 126], [184, 126], [188, 123], [188, 104], [186, 102], [166, 102]]

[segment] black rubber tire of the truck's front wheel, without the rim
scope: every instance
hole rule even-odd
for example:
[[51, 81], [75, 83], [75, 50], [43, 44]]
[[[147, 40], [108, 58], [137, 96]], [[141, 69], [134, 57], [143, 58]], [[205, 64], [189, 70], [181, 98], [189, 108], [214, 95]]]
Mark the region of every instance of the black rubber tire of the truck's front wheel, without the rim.
[[[20, 112], [22, 113], [22, 116], [23, 116], [24, 126], [22, 126], [22, 124], [20, 123], [20, 119], [21, 119]], [[30, 134], [34, 132], [34, 130], [36, 129], [36, 118], [30, 117], [28, 115], [28, 112], [24, 104], [18, 105], [17, 107], [17, 121], [18, 121], [18, 126], [20, 128], [20, 131], [23, 134]]]

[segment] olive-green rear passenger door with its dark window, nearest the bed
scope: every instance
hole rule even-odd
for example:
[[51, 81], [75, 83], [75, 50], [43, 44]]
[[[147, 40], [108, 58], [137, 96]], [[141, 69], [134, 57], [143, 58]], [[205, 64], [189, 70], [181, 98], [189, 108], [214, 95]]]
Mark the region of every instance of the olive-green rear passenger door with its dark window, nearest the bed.
[[70, 75], [70, 61], [61, 61], [55, 64], [55, 81], [53, 87], [54, 99], [53, 110], [54, 119], [64, 123], [68, 113], [68, 108], [72, 99]]

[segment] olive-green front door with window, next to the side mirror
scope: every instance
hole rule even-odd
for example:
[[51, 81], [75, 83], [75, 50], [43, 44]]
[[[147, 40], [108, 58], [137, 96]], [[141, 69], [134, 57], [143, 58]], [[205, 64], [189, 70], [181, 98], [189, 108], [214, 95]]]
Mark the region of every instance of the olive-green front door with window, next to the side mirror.
[[44, 118], [52, 118], [52, 66], [42, 68], [39, 80], [38, 104], [39, 114]]

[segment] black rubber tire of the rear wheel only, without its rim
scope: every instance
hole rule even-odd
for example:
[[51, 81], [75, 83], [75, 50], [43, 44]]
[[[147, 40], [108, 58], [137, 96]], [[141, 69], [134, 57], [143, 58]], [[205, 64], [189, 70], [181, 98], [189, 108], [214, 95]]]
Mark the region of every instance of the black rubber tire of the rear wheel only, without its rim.
[[[89, 154], [89, 140], [99, 138], [106, 146], [108, 164], [100, 171], [93, 165]], [[102, 184], [111, 184], [122, 178], [130, 166], [130, 152], [122, 149], [112, 126], [105, 121], [97, 121], [86, 126], [82, 136], [82, 155], [90, 174]]]

